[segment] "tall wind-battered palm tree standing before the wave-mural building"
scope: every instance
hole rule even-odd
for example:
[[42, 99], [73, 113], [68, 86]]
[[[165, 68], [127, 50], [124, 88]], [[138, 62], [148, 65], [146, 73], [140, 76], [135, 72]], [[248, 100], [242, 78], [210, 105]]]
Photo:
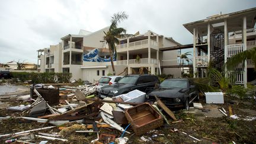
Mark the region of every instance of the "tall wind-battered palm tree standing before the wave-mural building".
[[[125, 12], [118, 12], [111, 17], [111, 25], [107, 32], [104, 31], [104, 40], [108, 44], [108, 50], [110, 52], [111, 66], [113, 69], [113, 75], [116, 75], [116, 70], [114, 68], [113, 58], [116, 58], [116, 44], [119, 44], [119, 38], [124, 38], [130, 36], [126, 34], [124, 28], [117, 27], [117, 24], [128, 18]], [[113, 57], [114, 56], [114, 57]]]

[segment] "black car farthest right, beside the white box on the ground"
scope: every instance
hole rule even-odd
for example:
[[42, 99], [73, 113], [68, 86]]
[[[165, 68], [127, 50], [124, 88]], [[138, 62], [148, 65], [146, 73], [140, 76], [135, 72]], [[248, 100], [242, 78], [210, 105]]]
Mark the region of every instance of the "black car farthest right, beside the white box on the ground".
[[196, 99], [199, 99], [199, 92], [193, 81], [190, 79], [166, 79], [159, 88], [149, 92], [146, 98], [149, 102], [154, 102], [156, 97], [169, 108], [185, 108], [188, 110], [189, 105]]

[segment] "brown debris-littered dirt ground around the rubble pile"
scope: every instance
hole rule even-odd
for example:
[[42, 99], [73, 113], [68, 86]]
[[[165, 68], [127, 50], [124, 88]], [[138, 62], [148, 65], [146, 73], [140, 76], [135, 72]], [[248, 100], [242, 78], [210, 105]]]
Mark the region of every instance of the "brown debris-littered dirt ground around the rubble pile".
[[[254, 100], [239, 100], [235, 97], [225, 95], [225, 104], [206, 104], [205, 98], [200, 98], [200, 103], [208, 112], [203, 112], [197, 108], [190, 108], [189, 112], [183, 110], [175, 111], [175, 116], [181, 120], [178, 123], [171, 123], [171, 118], [167, 117], [171, 125], [164, 126], [141, 136], [136, 136], [133, 133], [132, 127], [127, 129], [131, 134], [125, 134], [129, 138], [128, 143], [256, 143], [256, 120], [247, 121], [242, 118], [245, 116], [256, 116], [256, 106]], [[21, 113], [7, 111], [6, 107], [11, 105], [29, 104], [29, 102], [4, 101], [0, 103], [0, 117], [6, 116], [21, 116]], [[191, 105], [193, 106], [193, 105]], [[233, 114], [237, 114], [241, 119], [231, 119], [229, 117], [228, 107], [232, 107]], [[219, 108], [225, 108], [228, 116], [220, 113]], [[167, 114], [166, 114], [167, 116]], [[8, 119], [0, 121], [0, 135], [7, 133], [21, 132], [23, 130], [37, 129], [40, 127], [52, 126], [48, 123], [37, 123], [35, 121]], [[126, 126], [122, 126], [126, 127]], [[177, 132], [172, 132], [177, 129]], [[44, 133], [59, 133], [58, 127], [53, 129], [41, 130]], [[100, 132], [114, 134], [116, 137], [121, 136], [121, 132], [115, 129], [101, 128]], [[185, 135], [184, 133], [187, 133]], [[33, 132], [36, 134], [37, 132]], [[196, 137], [197, 141], [190, 136]], [[145, 137], [148, 142], [144, 142], [140, 137]], [[89, 143], [97, 138], [96, 133], [83, 135], [84, 138], [61, 142], [58, 140], [50, 140], [50, 143]], [[30, 136], [31, 142], [40, 142], [38, 137]], [[0, 138], [0, 143], [4, 143], [6, 139]]]

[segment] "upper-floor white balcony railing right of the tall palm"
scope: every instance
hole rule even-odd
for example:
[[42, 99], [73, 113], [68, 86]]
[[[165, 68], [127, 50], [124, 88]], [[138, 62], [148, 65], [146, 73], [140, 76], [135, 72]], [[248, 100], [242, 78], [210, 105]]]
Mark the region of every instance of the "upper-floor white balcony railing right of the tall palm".
[[[117, 50], [136, 49], [136, 48], [141, 49], [146, 47], [148, 47], [148, 39], [129, 43], [128, 47], [127, 47], [127, 43], [119, 44], [116, 46]], [[151, 40], [151, 47], [154, 49], [157, 49], [158, 43], [154, 40]]]

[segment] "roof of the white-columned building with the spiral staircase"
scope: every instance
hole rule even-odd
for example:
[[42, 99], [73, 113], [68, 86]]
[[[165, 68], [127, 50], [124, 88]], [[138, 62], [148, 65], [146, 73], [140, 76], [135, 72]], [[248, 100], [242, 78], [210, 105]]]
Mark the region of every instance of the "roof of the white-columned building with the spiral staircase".
[[[229, 14], [218, 14], [212, 17], [183, 24], [190, 33], [193, 34], [193, 28], [198, 28], [200, 34], [207, 34], [207, 24], [212, 24], [213, 27], [223, 26], [223, 21], [227, 20], [228, 31], [238, 31], [242, 28], [243, 17], [247, 17], [247, 29], [254, 28], [256, 21], [256, 8], [245, 9], [242, 11], [231, 12]], [[215, 24], [215, 25], [213, 25]]]

